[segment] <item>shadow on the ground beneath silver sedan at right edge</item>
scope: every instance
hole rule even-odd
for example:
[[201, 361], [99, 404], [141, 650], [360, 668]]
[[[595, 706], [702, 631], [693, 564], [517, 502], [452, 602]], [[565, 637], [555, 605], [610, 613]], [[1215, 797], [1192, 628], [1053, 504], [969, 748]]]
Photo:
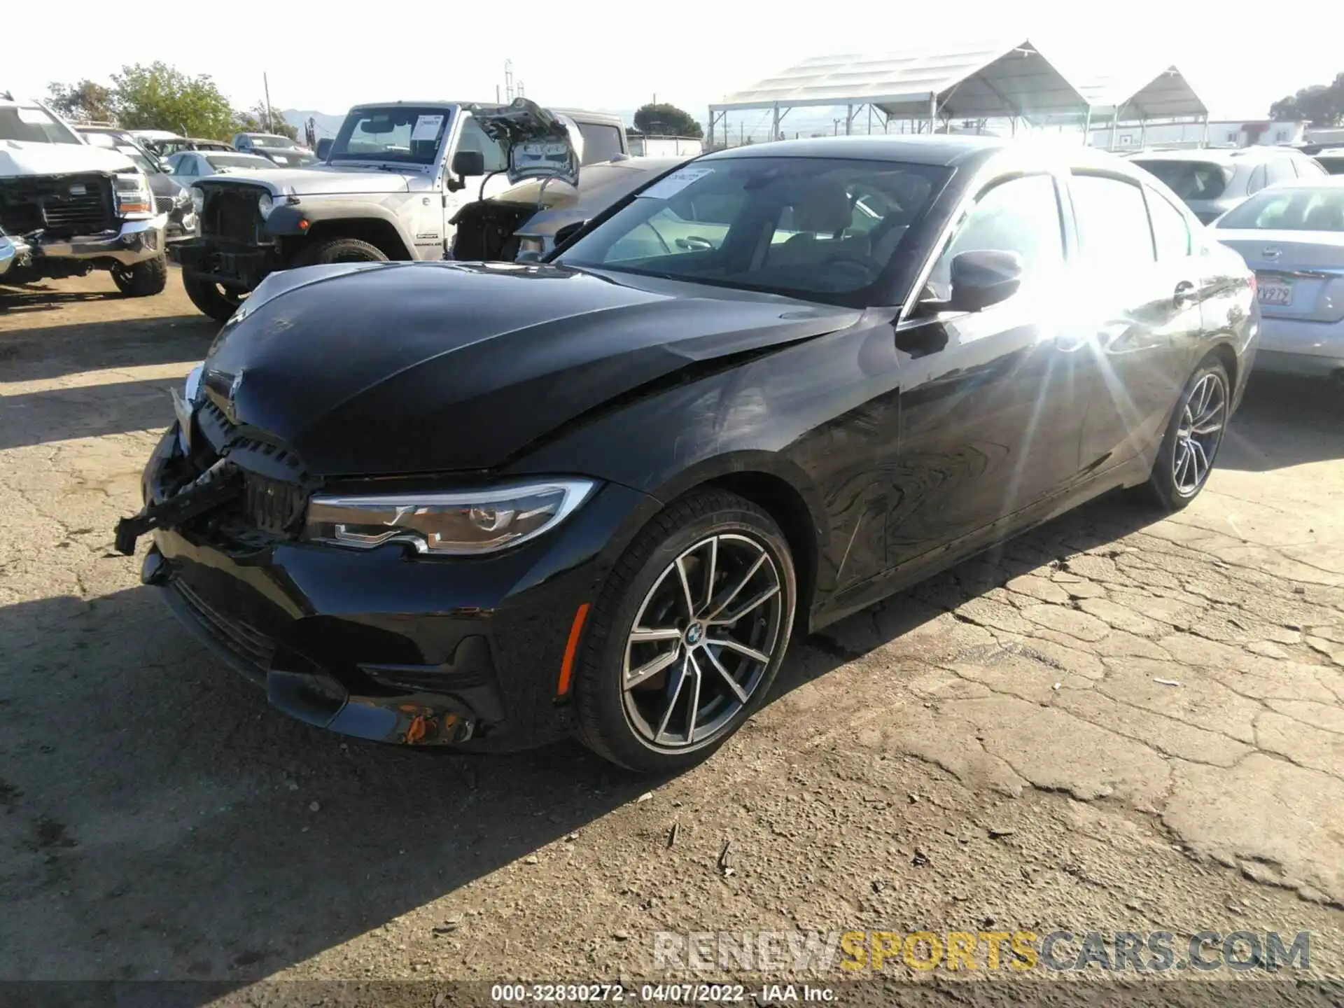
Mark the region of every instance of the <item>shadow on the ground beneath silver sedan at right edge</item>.
[[1219, 449], [1218, 468], [1273, 472], [1344, 457], [1344, 386], [1251, 374]]

